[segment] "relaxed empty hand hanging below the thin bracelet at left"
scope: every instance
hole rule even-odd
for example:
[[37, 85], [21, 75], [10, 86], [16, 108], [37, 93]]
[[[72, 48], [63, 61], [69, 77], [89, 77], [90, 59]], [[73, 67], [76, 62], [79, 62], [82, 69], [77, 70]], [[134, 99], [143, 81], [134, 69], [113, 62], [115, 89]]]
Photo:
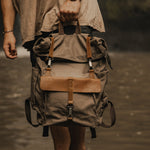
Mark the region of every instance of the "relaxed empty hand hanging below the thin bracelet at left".
[[13, 32], [4, 34], [3, 49], [7, 58], [15, 59], [17, 57], [16, 38]]

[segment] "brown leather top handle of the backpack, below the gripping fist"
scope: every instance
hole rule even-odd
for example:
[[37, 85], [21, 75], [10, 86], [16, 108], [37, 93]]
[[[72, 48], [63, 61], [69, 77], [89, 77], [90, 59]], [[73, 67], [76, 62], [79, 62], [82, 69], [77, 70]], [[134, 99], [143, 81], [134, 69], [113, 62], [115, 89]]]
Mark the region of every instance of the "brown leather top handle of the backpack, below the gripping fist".
[[[76, 30], [75, 30], [75, 33], [76, 34], [81, 34], [81, 27], [80, 27], [80, 23], [79, 23], [79, 20], [77, 19], [76, 20]], [[60, 35], [64, 35], [64, 25], [63, 25], [63, 22], [60, 20], [59, 21], [59, 28], [58, 28], [58, 30], [59, 30], [59, 34]]]

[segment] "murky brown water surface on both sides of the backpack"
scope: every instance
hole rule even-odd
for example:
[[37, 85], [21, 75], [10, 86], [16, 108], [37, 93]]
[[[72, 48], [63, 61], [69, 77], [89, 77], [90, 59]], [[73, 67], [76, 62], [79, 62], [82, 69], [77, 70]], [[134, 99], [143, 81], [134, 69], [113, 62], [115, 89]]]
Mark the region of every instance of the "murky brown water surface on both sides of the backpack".
[[[150, 103], [148, 52], [113, 52], [107, 93], [117, 111], [111, 129], [97, 128], [97, 139], [86, 132], [87, 150], [148, 150]], [[0, 58], [0, 147], [2, 150], [53, 149], [52, 138], [43, 138], [42, 128], [32, 128], [25, 119], [24, 99], [30, 93], [31, 66], [28, 57]]]

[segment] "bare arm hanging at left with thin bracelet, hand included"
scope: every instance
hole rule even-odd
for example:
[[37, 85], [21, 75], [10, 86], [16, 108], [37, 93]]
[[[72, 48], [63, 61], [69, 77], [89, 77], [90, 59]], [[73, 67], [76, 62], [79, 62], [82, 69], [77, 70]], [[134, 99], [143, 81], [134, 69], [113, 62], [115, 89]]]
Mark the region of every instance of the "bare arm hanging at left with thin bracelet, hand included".
[[3, 49], [6, 57], [14, 59], [17, 57], [16, 38], [13, 33], [16, 12], [12, 0], [1, 0], [1, 8], [4, 24]]

